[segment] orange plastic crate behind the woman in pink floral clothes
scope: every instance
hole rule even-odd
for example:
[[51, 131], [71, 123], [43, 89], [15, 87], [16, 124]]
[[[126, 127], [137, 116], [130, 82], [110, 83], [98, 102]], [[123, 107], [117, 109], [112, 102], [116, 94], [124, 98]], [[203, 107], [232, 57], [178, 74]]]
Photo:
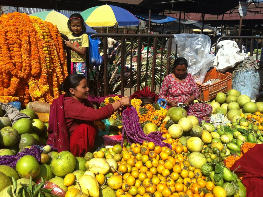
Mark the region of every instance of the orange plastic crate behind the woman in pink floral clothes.
[[208, 81], [209, 79], [220, 79], [221, 81], [212, 85], [200, 85], [199, 83], [196, 83], [198, 89], [200, 90], [200, 96], [197, 99], [201, 102], [208, 102], [215, 98], [217, 93], [226, 93], [232, 88], [232, 74], [230, 72], [223, 74], [216, 71], [214, 68], [206, 73], [204, 82]]

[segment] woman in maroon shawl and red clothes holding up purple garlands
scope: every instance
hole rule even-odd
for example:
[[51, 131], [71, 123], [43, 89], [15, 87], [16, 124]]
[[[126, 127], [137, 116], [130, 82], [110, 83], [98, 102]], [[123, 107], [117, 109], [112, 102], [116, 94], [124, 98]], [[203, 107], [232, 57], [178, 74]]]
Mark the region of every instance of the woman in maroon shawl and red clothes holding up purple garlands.
[[89, 102], [87, 79], [83, 75], [71, 74], [60, 85], [66, 94], [54, 99], [50, 106], [48, 142], [58, 152], [70, 151], [74, 156], [83, 157], [93, 151], [98, 136], [94, 121], [110, 117], [120, 106], [131, 104], [129, 97], [95, 109]]

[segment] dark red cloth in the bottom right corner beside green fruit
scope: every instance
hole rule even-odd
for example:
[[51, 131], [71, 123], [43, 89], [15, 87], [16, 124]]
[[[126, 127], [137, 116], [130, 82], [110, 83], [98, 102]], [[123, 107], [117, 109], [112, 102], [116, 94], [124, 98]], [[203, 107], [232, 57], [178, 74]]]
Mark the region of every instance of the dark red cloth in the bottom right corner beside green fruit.
[[230, 170], [243, 176], [242, 183], [246, 186], [246, 196], [261, 196], [263, 194], [263, 144], [257, 144], [238, 159]]

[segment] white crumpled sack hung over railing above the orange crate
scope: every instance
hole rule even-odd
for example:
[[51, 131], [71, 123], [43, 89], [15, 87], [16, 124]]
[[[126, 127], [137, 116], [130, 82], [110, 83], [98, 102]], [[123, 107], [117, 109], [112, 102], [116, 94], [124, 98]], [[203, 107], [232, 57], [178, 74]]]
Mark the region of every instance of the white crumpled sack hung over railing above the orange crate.
[[237, 63], [243, 61], [246, 53], [239, 53], [239, 47], [234, 40], [222, 40], [216, 46], [218, 52], [214, 60], [214, 67], [219, 72], [225, 72], [229, 68], [233, 68]]

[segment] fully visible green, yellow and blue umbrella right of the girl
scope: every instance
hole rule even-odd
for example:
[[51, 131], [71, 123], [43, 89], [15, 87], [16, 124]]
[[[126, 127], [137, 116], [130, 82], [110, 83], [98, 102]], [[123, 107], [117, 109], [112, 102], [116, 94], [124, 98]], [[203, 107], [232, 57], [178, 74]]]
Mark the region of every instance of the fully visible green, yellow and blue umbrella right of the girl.
[[86, 9], [80, 13], [90, 27], [112, 27], [139, 25], [140, 20], [129, 11], [118, 6], [103, 5]]

